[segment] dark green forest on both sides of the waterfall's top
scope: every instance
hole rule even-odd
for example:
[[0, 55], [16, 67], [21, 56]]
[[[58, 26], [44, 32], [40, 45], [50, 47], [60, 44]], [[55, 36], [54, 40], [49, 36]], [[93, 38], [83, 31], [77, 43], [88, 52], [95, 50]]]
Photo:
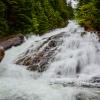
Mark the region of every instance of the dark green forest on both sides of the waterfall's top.
[[[100, 31], [100, 0], [78, 0], [75, 19], [88, 31]], [[66, 0], [0, 0], [0, 36], [42, 35], [72, 19]]]

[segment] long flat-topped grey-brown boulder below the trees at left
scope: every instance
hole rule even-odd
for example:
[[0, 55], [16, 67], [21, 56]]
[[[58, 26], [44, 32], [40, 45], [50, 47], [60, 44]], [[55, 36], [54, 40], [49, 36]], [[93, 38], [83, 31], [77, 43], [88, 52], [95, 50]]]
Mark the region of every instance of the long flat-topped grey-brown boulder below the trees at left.
[[2, 46], [5, 50], [11, 48], [12, 46], [20, 45], [24, 42], [23, 35], [16, 35], [8, 38], [4, 38], [0, 41], [0, 46]]

